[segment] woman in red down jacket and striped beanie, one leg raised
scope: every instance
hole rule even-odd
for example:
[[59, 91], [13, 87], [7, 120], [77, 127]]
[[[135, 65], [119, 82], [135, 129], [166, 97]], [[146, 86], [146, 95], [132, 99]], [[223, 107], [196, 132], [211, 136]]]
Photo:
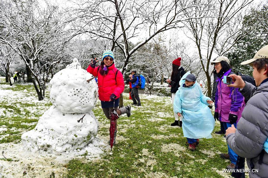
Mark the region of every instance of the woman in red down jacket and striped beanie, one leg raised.
[[[114, 66], [113, 52], [111, 50], [104, 51], [102, 55], [102, 62], [98, 67], [96, 67], [97, 62], [98, 60], [96, 61], [96, 58], [95, 60], [91, 60], [87, 71], [94, 75], [94, 77], [98, 77], [99, 100], [101, 101], [102, 110], [105, 116], [110, 119], [111, 111], [115, 108], [119, 116], [127, 114], [129, 117], [131, 115], [129, 105], [118, 109], [119, 97], [124, 91], [124, 79], [120, 70]], [[117, 121], [115, 121], [113, 144], [115, 144], [116, 133]]]

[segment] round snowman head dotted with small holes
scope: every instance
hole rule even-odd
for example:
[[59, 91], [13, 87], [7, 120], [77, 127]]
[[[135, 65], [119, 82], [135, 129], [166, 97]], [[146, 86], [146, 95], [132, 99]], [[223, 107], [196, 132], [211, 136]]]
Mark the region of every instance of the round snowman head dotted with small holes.
[[51, 103], [63, 113], [88, 113], [94, 108], [98, 93], [96, 81], [87, 82], [91, 78], [74, 58], [49, 82]]

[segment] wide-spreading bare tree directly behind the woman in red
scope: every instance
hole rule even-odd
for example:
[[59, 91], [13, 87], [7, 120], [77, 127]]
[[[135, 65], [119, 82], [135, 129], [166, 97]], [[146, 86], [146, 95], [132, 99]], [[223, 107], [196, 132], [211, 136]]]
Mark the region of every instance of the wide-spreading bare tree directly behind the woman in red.
[[[75, 12], [70, 13], [70, 21], [77, 31], [74, 36], [87, 34], [95, 39], [104, 38], [110, 40], [107, 48], [121, 49], [124, 55], [121, 72], [124, 74], [131, 56], [139, 48], [161, 32], [182, 27], [180, 22], [192, 19], [191, 14], [186, 14], [199, 6], [188, 0], [93, 0], [77, 3], [69, 12]], [[77, 25], [78, 21], [80, 25]], [[143, 31], [146, 31], [144, 40], [130, 48], [130, 40]]]

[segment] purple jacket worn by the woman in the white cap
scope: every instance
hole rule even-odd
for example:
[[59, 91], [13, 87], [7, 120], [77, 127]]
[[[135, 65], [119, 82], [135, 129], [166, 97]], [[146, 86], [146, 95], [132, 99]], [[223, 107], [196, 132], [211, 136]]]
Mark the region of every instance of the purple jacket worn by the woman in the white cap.
[[[233, 74], [231, 69], [228, 70], [223, 76]], [[219, 113], [219, 120], [222, 122], [230, 122], [228, 120], [229, 114], [237, 115], [239, 121], [242, 111], [245, 107], [243, 95], [238, 91], [238, 88], [228, 87], [223, 83], [222, 78], [217, 78], [217, 89], [215, 94], [215, 112]]]

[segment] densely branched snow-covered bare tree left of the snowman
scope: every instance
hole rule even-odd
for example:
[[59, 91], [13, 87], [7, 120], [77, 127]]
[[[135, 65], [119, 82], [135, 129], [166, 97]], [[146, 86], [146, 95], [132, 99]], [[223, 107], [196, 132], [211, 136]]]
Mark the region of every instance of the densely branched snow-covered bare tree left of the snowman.
[[54, 51], [55, 43], [65, 42], [62, 38], [66, 24], [63, 14], [57, 6], [48, 3], [41, 6], [34, 1], [1, 1], [0, 6], [1, 25], [8, 31], [0, 36], [0, 40], [25, 62], [33, 76], [38, 100], [43, 100], [45, 83], [40, 76], [43, 68], [41, 59], [45, 53]]

